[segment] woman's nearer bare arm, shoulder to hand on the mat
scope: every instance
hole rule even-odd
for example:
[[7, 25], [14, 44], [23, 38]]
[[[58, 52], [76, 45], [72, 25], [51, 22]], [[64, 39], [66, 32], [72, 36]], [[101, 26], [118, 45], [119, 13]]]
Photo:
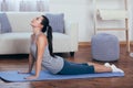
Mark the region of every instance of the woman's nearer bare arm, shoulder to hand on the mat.
[[47, 37], [44, 35], [39, 35], [38, 41], [37, 41], [37, 46], [38, 46], [38, 52], [37, 52], [38, 57], [35, 62], [35, 75], [27, 77], [27, 79], [35, 79], [40, 75], [42, 56], [44, 53], [44, 48], [47, 46]]

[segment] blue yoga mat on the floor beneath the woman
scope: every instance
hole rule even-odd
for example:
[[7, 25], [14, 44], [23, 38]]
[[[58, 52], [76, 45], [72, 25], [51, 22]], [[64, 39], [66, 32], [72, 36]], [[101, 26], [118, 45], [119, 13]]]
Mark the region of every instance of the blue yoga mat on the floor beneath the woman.
[[35, 81], [35, 80], [60, 80], [60, 79], [75, 79], [75, 78], [98, 78], [98, 77], [123, 77], [124, 73], [102, 73], [102, 74], [84, 74], [84, 75], [53, 75], [48, 70], [41, 70], [38, 79], [28, 80], [25, 77], [32, 74], [18, 74], [17, 70], [0, 72], [0, 78], [6, 81]]

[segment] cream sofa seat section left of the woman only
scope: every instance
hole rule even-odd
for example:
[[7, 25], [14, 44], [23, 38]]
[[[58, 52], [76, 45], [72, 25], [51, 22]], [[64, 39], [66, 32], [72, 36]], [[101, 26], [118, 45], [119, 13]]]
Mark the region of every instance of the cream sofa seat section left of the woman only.
[[0, 54], [28, 54], [31, 33], [0, 34]]

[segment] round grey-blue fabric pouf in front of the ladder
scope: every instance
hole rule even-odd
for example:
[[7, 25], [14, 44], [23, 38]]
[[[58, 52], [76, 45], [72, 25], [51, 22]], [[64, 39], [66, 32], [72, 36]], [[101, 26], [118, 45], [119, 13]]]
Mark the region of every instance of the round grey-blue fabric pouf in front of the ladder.
[[120, 43], [115, 35], [99, 33], [91, 40], [92, 58], [101, 62], [113, 62], [120, 57]]

